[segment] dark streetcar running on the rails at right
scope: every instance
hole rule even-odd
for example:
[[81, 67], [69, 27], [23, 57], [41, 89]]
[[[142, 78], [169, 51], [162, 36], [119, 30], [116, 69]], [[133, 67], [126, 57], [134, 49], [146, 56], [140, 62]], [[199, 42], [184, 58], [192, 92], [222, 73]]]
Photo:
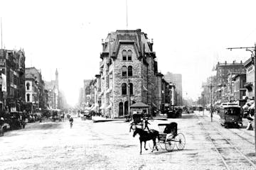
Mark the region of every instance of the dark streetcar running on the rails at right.
[[242, 128], [242, 111], [237, 103], [223, 103], [220, 105], [220, 125], [225, 128]]

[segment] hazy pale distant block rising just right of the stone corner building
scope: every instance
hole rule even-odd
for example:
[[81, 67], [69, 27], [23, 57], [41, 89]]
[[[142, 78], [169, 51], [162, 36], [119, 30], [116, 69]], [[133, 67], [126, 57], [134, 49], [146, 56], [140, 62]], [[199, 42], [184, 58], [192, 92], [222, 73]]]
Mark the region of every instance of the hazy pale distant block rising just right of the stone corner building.
[[174, 96], [174, 100], [176, 101], [176, 106], [182, 106], [183, 105], [183, 97], [182, 97], [182, 75], [181, 74], [173, 74], [170, 72], [167, 72], [164, 75], [164, 79], [169, 82], [173, 83], [176, 87], [176, 96]]

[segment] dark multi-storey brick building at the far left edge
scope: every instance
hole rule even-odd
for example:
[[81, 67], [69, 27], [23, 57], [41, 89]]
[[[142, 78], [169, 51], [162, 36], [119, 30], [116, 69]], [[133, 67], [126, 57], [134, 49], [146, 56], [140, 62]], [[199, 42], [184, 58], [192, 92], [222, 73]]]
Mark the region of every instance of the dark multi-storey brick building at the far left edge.
[[0, 50], [1, 105], [22, 111], [25, 102], [25, 52]]

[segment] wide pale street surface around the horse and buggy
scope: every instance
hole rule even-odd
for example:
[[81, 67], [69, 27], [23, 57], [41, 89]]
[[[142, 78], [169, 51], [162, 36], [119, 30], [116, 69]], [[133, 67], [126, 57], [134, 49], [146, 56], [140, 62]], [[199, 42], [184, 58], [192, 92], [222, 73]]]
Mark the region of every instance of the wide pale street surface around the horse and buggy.
[[0, 169], [256, 169], [254, 131], [223, 128], [208, 113], [183, 114], [175, 121], [186, 137], [183, 150], [144, 150], [129, 123], [92, 123], [76, 118], [63, 123], [32, 123], [0, 137]]

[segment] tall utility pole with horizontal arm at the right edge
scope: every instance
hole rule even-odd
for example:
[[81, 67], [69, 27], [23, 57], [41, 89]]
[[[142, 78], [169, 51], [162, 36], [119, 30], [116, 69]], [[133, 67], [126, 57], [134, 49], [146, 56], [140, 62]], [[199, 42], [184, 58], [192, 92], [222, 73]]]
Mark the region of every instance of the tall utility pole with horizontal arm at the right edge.
[[[252, 57], [253, 57], [253, 64], [254, 64], [254, 72], [255, 72], [255, 84], [254, 84], [254, 92], [255, 92], [255, 96], [254, 96], [254, 101], [256, 103], [256, 70], [255, 70], [255, 66], [256, 66], [256, 43], [254, 47], [230, 47], [227, 48], [228, 50], [233, 50], [233, 49], [245, 49], [246, 51], [250, 51], [252, 52]], [[256, 115], [256, 109], [255, 109], [255, 115]], [[254, 120], [255, 121], [255, 120]], [[256, 128], [256, 122], [255, 122], [255, 128]], [[255, 152], [256, 152], [256, 129], [255, 129]]]

